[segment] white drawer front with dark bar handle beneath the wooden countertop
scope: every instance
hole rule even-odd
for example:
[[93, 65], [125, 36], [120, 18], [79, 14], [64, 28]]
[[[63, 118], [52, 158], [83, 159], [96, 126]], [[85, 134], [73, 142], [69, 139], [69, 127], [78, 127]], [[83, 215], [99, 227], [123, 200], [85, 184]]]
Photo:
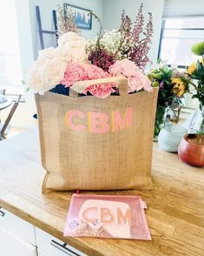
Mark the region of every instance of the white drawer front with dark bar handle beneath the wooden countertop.
[[36, 244], [39, 251], [47, 253], [49, 256], [87, 256], [38, 228], [36, 228]]

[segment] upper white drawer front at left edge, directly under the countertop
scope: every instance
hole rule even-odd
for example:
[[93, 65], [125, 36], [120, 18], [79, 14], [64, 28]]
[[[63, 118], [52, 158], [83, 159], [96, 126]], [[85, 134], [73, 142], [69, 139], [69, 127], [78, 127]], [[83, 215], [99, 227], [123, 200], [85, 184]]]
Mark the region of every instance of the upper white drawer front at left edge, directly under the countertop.
[[0, 227], [36, 246], [34, 226], [3, 208], [0, 208]]

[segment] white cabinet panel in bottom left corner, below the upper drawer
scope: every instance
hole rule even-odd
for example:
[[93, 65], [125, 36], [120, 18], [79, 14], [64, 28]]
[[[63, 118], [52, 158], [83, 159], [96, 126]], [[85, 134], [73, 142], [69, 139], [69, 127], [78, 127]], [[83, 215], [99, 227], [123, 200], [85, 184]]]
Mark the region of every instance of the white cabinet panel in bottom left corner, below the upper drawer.
[[36, 246], [19, 239], [0, 227], [0, 255], [36, 256]]

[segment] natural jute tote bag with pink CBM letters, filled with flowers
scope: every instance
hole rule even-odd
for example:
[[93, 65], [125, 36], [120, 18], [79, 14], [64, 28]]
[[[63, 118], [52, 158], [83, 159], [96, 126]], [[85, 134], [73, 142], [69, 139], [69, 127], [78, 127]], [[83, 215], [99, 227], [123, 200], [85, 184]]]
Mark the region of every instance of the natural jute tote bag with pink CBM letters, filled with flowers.
[[[119, 96], [77, 97], [90, 84], [110, 82]], [[158, 89], [128, 94], [127, 86], [125, 77], [108, 77], [77, 82], [69, 97], [36, 94], [43, 192], [152, 189]]]

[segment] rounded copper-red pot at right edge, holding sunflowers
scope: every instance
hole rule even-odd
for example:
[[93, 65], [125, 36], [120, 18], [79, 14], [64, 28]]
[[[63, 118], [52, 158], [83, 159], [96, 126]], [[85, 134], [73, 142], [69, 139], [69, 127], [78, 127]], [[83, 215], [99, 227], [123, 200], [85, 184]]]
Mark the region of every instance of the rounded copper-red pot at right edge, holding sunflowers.
[[204, 135], [184, 135], [179, 145], [178, 155], [188, 165], [204, 166]]

